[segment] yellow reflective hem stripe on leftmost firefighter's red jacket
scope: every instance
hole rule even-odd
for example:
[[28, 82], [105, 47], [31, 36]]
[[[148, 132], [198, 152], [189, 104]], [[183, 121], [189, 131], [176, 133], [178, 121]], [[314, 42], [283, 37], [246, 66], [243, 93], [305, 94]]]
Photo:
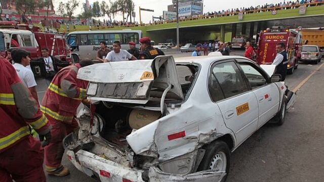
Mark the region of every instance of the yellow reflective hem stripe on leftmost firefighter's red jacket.
[[0, 138], [0, 150], [14, 144], [19, 139], [23, 138], [24, 136], [30, 134], [30, 130], [28, 126], [23, 126], [17, 131], [9, 134], [4, 138]]

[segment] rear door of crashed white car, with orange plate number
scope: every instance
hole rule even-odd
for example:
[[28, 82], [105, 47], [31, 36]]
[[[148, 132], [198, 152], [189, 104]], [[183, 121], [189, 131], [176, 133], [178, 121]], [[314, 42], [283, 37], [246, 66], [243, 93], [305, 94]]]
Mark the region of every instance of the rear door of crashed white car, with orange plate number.
[[217, 103], [226, 127], [239, 145], [258, 125], [258, 103], [234, 60], [215, 63], [210, 70], [209, 92]]

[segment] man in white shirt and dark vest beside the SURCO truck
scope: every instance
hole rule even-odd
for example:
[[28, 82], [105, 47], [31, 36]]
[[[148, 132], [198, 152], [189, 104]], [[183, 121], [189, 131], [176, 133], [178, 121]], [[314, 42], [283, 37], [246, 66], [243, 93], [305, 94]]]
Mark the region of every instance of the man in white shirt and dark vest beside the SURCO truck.
[[272, 65], [276, 65], [275, 67], [275, 74], [281, 75], [281, 81], [284, 81], [287, 75], [287, 52], [285, 51], [285, 44], [278, 43], [275, 47], [275, 51], [277, 53], [276, 57], [274, 58]]

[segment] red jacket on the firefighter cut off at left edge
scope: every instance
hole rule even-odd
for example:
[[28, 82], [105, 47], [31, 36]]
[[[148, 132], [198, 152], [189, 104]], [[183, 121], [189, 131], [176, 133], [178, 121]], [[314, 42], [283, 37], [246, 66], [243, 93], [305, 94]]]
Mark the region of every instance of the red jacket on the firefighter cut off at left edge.
[[46, 134], [51, 125], [7, 59], [0, 59], [0, 153], [30, 134]]

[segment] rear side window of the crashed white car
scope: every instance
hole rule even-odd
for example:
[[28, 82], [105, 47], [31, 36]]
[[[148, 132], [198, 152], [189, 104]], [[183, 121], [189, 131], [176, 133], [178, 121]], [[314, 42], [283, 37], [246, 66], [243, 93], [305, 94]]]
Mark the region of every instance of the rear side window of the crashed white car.
[[[216, 79], [214, 83], [213, 77]], [[210, 82], [210, 92], [214, 102], [239, 95], [249, 90], [241, 72], [233, 61], [213, 66]]]

